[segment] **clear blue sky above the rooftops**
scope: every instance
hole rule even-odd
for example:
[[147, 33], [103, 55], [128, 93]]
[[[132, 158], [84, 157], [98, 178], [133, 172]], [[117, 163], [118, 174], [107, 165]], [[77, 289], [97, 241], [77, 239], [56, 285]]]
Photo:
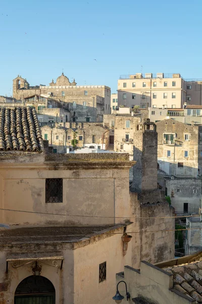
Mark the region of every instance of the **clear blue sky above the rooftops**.
[[112, 93], [120, 74], [141, 66], [202, 78], [201, 11], [201, 0], [1, 1], [0, 95], [12, 94], [18, 74], [47, 85], [63, 68]]

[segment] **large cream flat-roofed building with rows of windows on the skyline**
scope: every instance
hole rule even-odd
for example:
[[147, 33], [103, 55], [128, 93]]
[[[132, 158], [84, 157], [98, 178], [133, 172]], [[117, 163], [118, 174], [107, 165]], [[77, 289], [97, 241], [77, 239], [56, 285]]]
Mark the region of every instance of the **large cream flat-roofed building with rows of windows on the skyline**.
[[136, 73], [118, 80], [118, 106], [183, 108], [202, 104], [202, 81], [184, 80], [179, 73]]

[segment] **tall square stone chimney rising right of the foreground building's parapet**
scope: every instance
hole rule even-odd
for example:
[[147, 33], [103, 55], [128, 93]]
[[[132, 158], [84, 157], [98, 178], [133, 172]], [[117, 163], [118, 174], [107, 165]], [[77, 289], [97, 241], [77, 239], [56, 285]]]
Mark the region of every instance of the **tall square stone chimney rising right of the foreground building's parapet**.
[[158, 133], [149, 119], [136, 126], [133, 138], [133, 181], [131, 191], [140, 193], [157, 189]]

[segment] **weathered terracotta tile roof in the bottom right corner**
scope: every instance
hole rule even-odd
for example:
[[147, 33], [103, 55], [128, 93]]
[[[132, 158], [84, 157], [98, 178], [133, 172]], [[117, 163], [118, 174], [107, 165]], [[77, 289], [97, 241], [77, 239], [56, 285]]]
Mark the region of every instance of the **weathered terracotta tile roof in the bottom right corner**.
[[[196, 261], [197, 260], [197, 261]], [[202, 303], [202, 254], [189, 263], [163, 268], [174, 276], [174, 290]]]

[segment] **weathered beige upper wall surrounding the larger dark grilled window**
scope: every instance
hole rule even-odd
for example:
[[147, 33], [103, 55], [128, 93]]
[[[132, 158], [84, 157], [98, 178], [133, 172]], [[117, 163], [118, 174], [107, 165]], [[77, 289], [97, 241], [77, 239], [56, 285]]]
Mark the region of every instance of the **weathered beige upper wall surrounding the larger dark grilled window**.
[[[17, 215], [14, 211], [4, 211], [3, 221], [10, 224], [84, 225], [120, 222], [122, 216], [130, 216], [129, 167], [133, 163], [125, 161], [124, 157], [118, 158], [114, 154], [64, 157], [59, 154], [50, 155], [44, 164], [30, 164], [30, 167], [29, 164], [1, 166], [4, 208], [37, 212], [19, 212]], [[46, 178], [63, 178], [62, 203], [45, 203]]]

